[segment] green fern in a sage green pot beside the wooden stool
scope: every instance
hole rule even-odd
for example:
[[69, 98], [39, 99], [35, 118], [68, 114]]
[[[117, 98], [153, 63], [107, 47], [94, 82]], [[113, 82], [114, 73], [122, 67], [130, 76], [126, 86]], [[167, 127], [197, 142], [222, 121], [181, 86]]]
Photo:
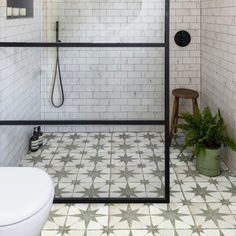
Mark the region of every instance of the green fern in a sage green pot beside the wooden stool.
[[222, 145], [236, 151], [236, 142], [226, 132], [226, 125], [220, 110], [212, 115], [209, 107], [196, 114], [182, 114], [183, 124], [178, 125], [185, 134], [185, 140], [180, 154], [187, 147], [194, 147], [197, 170], [206, 176], [220, 174], [220, 148]]

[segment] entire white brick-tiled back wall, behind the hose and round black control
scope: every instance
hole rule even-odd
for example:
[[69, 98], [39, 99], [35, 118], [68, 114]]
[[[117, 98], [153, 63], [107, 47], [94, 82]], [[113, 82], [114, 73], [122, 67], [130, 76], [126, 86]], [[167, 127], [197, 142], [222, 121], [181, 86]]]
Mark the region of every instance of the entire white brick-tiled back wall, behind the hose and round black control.
[[[60, 22], [63, 42], [164, 41], [163, 0], [44, 1], [43, 6], [44, 41], [55, 40], [56, 21]], [[186, 48], [177, 47], [173, 40], [174, 34], [182, 29], [192, 35], [192, 43]], [[188, 87], [199, 91], [199, 0], [171, 1], [170, 35], [171, 89]], [[49, 101], [55, 49], [43, 51], [43, 119], [163, 119], [163, 49], [61, 49], [60, 59], [66, 100], [62, 108], [55, 109]], [[94, 126], [70, 127], [69, 130], [81, 129], [92, 131]], [[67, 131], [68, 128], [47, 130]]]

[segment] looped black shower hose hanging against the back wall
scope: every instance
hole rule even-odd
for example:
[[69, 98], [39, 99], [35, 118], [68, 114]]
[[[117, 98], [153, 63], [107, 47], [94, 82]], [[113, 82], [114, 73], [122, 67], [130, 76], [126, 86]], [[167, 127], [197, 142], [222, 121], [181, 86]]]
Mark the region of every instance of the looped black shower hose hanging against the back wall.
[[[61, 101], [58, 105], [55, 104], [54, 98], [53, 98], [53, 95], [55, 92], [56, 80], [57, 80], [57, 72], [58, 72], [58, 78], [59, 78], [59, 84], [60, 84], [60, 90], [61, 90]], [[57, 47], [56, 67], [55, 67], [55, 74], [54, 74], [53, 84], [52, 84], [51, 103], [54, 107], [59, 108], [59, 107], [63, 106], [64, 101], [65, 101], [65, 95], [64, 95], [64, 89], [63, 89], [62, 78], [61, 78], [59, 47]]]

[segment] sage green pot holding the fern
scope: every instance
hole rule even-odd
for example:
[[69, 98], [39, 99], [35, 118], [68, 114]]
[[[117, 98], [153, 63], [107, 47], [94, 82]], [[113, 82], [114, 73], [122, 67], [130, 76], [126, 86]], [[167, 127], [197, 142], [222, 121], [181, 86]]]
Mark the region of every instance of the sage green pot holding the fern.
[[206, 149], [205, 155], [201, 151], [197, 156], [197, 170], [206, 176], [218, 176], [220, 175], [220, 161], [220, 148]]

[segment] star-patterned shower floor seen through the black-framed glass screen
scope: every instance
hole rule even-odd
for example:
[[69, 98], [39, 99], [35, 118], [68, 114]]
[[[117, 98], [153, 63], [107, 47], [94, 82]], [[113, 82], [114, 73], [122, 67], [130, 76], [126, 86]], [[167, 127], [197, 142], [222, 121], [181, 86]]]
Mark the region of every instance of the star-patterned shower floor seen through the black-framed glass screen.
[[162, 133], [46, 133], [21, 166], [52, 177], [55, 197], [164, 197]]

